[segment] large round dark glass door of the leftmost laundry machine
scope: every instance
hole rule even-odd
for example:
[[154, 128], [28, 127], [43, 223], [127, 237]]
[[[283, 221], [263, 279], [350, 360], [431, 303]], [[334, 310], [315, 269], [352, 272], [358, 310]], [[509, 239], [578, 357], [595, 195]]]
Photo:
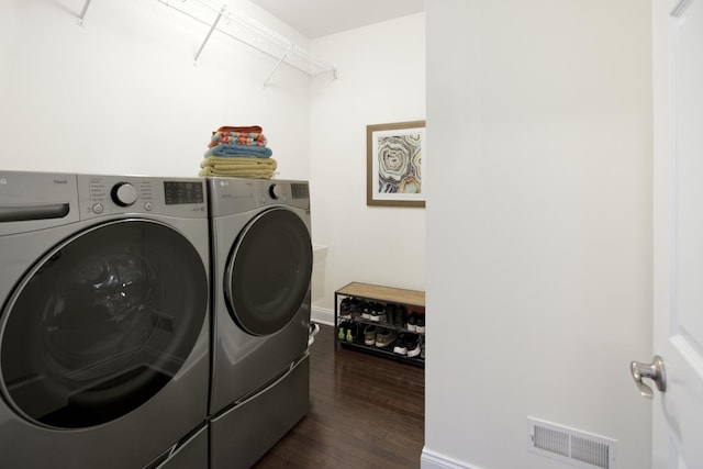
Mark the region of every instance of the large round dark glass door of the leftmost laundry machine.
[[36, 424], [110, 422], [170, 381], [207, 312], [205, 268], [181, 234], [144, 220], [96, 226], [49, 252], [10, 297], [2, 392]]

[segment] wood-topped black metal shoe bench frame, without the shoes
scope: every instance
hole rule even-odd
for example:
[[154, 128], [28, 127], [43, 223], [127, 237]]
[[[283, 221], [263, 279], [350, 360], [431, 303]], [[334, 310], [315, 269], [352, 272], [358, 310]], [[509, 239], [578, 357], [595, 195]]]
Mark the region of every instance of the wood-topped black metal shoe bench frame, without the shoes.
[[[419, 290], [405, 290], [393, 287], [382, 287], [378, 284], [352, 282], [334, 292], [334, 331], [335, 343], [337, 347], [350, 348], [368, 354], [377, 355], [383, 358], [402, 361], [405, 364], [424, 367], [425, 366], [425, 333], [409, 330], [405, 325], [399, 325], [393, 323], [391, 317], [386, 321], [371, 321], [364, 319], [360, 315], [346, 319], [341, 316], [342, 301], [345, 299], [357, 299], [367, 303], [382, 303], [384, 306], [388, 304], [394, 304], [398, 306], [405, 306], [409, 312], [415, 312], [417, 316], [422, 316], [424, 320], [425, 314], [425, 292]], [[357, 327], [357, 337], [355, 340], [347, 340], [346, 336], [343, 339], [339, 337], [339, 327], [344, 324], [355, 324]], [[393, 353], [393, 346], [389, 348], [379, 348], [376, 346], [365, 345], [364, 343], [364, 328], [366, 326], [373, 325], [377, 328], [387, 328], [393, 331], [395, 334], [415, 334], [420, 340], [422, 354], [416, 357], [408, 357]]]

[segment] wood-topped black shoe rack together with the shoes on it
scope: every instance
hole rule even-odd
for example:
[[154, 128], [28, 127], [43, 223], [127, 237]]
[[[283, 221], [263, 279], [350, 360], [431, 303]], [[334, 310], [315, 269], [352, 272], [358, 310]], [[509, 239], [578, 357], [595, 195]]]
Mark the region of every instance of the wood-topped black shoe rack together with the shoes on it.
[[352, 282], [334, 293], [335, 346], [425, 366], [425, 292]]

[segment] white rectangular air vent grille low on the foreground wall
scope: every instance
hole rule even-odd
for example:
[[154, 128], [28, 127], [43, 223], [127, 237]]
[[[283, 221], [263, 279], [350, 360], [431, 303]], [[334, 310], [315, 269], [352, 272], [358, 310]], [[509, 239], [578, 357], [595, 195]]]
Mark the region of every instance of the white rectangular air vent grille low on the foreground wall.
[[593, 469], [615, 469], [614, 439], [579, 432], [549, 422], [527, 418], [528, 449], [532, 453]]

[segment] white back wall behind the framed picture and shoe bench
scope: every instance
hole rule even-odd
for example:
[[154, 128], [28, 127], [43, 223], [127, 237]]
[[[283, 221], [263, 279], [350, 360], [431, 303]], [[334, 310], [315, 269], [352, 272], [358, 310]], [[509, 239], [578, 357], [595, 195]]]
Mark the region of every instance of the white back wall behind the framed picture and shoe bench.
[[314, 267], [324, 269], [313, 276], [317, 313], [333, 310], [334, 291], [350, 281], [425, 288], [425, 210], [366, 205], [366, 126], [425, 119], [424, 19], [413, 14], [312, 43], [338, 68], [337, 80], [319, 76], [312, 86], [312, 230], [314, 242], [327, 246]]

